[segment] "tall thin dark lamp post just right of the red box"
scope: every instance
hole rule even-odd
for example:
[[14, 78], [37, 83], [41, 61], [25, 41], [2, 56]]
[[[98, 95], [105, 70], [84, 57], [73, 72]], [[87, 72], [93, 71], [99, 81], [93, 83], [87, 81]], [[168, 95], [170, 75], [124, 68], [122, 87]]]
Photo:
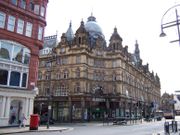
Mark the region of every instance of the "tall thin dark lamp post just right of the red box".
[[54, 48], [52, 48], [52, 50], [48, 53], [47, 55], [48, 58], [48, 66], [47, 66], [47, 70], [49, 71], [49, 92], [48, 92], [48, 119], [47, 119], [47, 129], [49, 129], [49, 125], [50, 125], [50, 115], [51, 115], [51, 94], [52, 94], [52, 90], [51, 90], [51, 72], [52, 72], [52, 68], [53, 68], [53, 61], [56, 60], [56, 52], [54, 50]]

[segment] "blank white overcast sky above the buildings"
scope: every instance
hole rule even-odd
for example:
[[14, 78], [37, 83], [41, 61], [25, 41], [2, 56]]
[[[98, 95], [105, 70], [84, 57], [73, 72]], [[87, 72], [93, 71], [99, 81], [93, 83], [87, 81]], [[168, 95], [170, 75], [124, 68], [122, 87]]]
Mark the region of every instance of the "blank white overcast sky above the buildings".
[[[74, 33], [93, 13], [101, 27], [107, 43], [114, 27], [133, 53], [138, 41], [143, 64], [149, 63], [150, 71], [160, 77], [161, 93], [180, 90], [180, 45], [176, 40], [176, 29], [165, 29], [167, 37], [160, 38], [161, 20], [175, 20], [175, 9], [164, 13], [180, 0], [49, 0], [45, 36], [55, 35], [58, 40], [67, 31], [70, 21]], [[180, 15], [180, 7], [177, 7]], [[163, 19], [162, 19], [163, 18]]]

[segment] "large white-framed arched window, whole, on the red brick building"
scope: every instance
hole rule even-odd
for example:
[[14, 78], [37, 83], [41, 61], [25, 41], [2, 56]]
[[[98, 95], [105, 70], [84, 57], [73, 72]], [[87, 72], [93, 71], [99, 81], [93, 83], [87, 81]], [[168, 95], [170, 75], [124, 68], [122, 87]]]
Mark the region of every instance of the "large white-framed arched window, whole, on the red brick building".
[[28, 48], [17, 42], [0, 40], [0, 78], [3, 78], [0, 79], [0, 85], [26, 88], [29, 62]]

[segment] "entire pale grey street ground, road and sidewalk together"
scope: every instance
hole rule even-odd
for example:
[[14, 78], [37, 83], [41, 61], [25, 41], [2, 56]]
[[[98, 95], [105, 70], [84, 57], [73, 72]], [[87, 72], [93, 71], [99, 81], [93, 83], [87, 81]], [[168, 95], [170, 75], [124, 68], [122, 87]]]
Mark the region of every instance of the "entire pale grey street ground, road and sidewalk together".
[[[176, 119], [180, 126], [180, 117]], [[166, 120], [167, 121], [167, 120]], [[169, 120], [171, 122], [172, 120]], [[0, 128], [0, 135], [2, 134], [38, 134], [38, 135], [56, 135], [61, 132], [61, 135], [89, 135], [95, 133], [97, 135], [116, 135], [116, 134], [126, 134], [126, 135], [165, 135], [164, 133], [164, 122], [153, 121], [153, 122], [128, 122], [127, 125], [113, 125], [112, 123], [102, 123], [102, 122], [90, 122], [90, 123], [61, 123], [51, 125], [49, 129], [46, 126], [40, 126], [38, 130], [29, 130], [29, 127], [19, 128], [19, 127], [8, 127]], [[178, 127], [179, 129], [179, 127]], [[36, 132], [36, 133], [35, 133]], [[50, 133], [49, 133], [50, 132]], [[103, 133], [102, 133], [103, 132]], [[140, 133], [141, 132], [141, 133]], [[170, 133], [170, 135], [180, 135], [180, 132]]]

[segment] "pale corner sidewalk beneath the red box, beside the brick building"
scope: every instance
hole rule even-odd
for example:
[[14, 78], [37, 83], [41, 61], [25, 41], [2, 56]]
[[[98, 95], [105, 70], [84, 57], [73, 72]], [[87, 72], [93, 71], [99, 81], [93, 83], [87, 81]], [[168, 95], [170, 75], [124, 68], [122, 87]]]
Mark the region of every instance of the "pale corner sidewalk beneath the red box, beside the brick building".
[[0, 135], [3, 134], [13, 134], [13, 133], [23, 133], [23, 132], [52, 132], [52, 131], [59, 131], [62, 132], [64, 130], [68, 130], [67, 127], [59, 127], [59, 126], [50, 126], [47, 129], [46, 126], [40, 126], [38, 130], [29, 130], [29, 127], [19, 128], [19, 127], [6, 127], [0, 128]]

